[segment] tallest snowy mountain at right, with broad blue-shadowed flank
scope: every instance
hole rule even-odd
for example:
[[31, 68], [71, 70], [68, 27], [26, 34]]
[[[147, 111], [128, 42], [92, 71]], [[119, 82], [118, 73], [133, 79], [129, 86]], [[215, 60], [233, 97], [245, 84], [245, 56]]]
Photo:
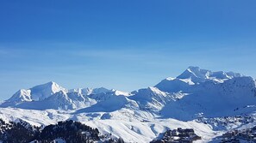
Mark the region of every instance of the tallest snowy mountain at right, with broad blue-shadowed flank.
[[164, 92], [187, 94], [161, 110], [162, 115], [179, 120], [196, 118], [199, 113], [207, 117], [239, 115], [240, 109], [256, 104], [255, 80], [233, 72], [190, 67], [177, 78], [162, 80], [156, 87]]

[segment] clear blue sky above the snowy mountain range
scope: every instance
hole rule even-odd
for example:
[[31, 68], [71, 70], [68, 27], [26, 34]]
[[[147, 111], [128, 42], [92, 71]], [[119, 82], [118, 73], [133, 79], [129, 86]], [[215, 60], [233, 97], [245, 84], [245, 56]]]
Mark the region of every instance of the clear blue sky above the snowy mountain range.
[[255, 0], [0, 2], [0, 99], [66, 88], [154, 86], [188, 66], [256, 77]]

